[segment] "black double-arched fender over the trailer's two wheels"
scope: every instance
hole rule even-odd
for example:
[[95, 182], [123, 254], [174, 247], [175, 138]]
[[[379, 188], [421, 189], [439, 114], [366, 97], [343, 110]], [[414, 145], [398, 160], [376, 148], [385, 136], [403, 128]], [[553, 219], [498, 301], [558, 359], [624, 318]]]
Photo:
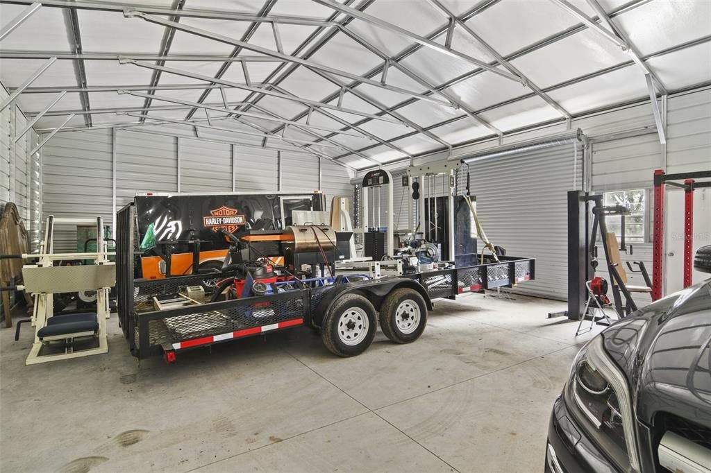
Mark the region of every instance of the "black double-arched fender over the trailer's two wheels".
[[321, 327], [321, 321], [324, 320], [324, 315], [331, 310], [333, 304], [341, 295], [345, 294], [360, 294], [370, 300], [375, 310], [380, 311], [380, 305], [383, 303], [385, 296], [393, 290], [400, 288], [411, 288], [417, 290], [417, 293], [422, 295], [424, 303], [427, 304], [427, 310], [432, 310], [432, 300], [429, 299], [427, 290], [412, 279], [394, 278], [387, 280], [368, 281], [366, 283], [346, 283], [339, 286], [334, 286], [329, 290], [316, 308], [313, 308], [312, 322], [316, 327]]

